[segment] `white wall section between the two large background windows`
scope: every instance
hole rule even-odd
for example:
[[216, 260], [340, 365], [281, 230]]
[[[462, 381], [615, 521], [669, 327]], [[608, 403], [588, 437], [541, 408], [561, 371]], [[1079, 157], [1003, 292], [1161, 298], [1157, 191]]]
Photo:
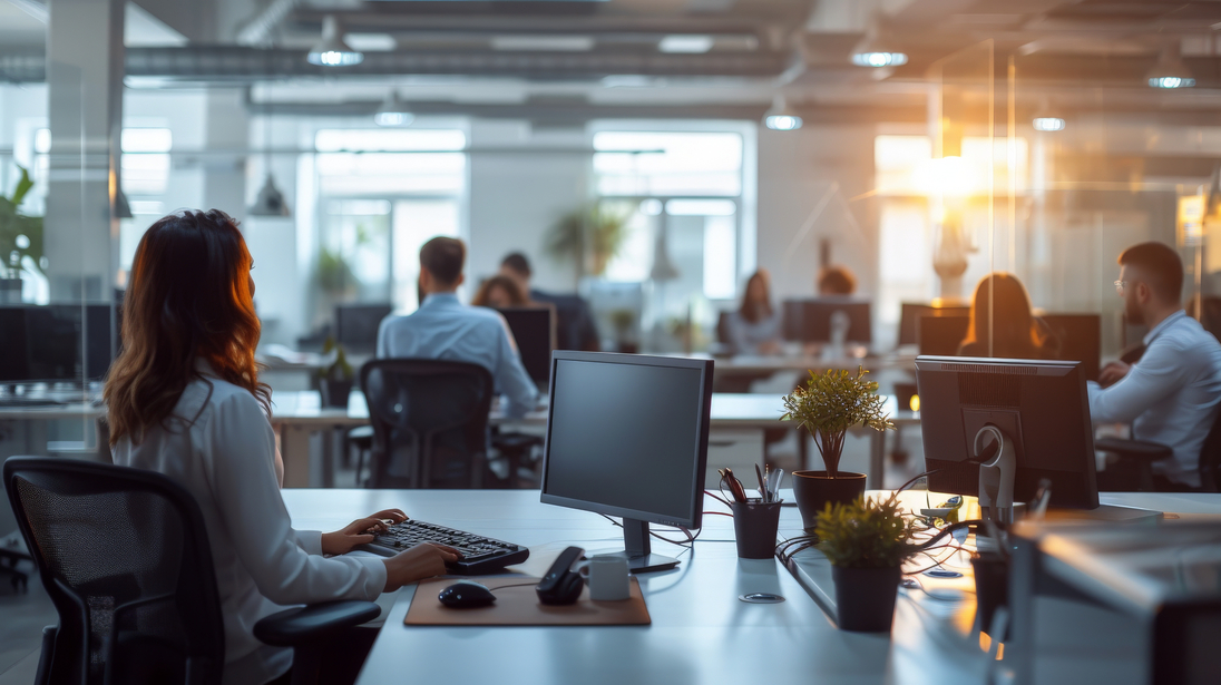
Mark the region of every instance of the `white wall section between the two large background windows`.
[[521, 252], [535, 272], [531, 285], [575, 292], [575, 265], [547, 256], [543, 239], [556, 220], [589, 198], [590, 154], [579, 151], [590, 145], [585, 131], [475, 120], [470, 136], [468, 281], [496, 274], [505, 254]]

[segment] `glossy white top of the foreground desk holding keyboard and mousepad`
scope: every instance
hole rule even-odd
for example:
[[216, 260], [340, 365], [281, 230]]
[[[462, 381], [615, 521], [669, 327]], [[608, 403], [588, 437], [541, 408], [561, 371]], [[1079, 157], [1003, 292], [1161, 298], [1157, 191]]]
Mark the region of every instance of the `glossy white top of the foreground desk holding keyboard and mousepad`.
[[[402, 507], [424, 520], [531, 547], [573, 543], [598, 552], [623, 541], [619, 529], [597, 514], [541, 504], [537, 491], [286, 490], [283, 497], [303, 529], [332, 530], [370, 512]], [[1109, 493], [1104, 499], [1221, 514], [1221, 496]], [[712, 501], [706, 509], [714, 510]], [[781, 535], [800, 527], [795, 508], [783, 509], [780, 527]], [[810, 681], [816, 673], [819, 683], [980, 681], [985, 659], [962, 629], [969, 604], [901, 591], [893, 637], [844, 632], [812, 600], [833, 596], [821, 554], [803, 553], [790, 574], [773, 559], [737, 559], [733, 537], [730, 519], [706, 516], [695, 552], [684, 552], [678, 569], [641, 578], [650, 626], [409, 628], [403, 617], [414, 586], [405, 587], [386, 596], [393, 606], [359, 683], [740, 685]], [[654, 546], [662, 553], [679, 551]], [[807, 593], [803, 586], [813, 590]], [[755, 591], [778, 592], [786, 601], [737, 600]]]

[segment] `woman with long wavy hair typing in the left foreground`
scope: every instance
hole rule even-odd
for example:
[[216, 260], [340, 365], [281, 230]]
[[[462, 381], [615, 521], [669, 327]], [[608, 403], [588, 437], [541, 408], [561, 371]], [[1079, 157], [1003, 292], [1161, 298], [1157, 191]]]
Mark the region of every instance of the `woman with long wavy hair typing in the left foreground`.
[[116, 464], [166, 474], [199, 503], [225, 619], [223, 681], [282, 676], [292, 652], [254, 624], [284, 604], [372, 600], [444, 573], [453, 549], [333, 557], [371, 542], [391, 509], [341, 531], [293, 530], [280, 496], [271, 391], [259, 382], [250, 253], [222, 211], [182, 211], [149, 227], [123, 302], [123, 352], [106, 379]]

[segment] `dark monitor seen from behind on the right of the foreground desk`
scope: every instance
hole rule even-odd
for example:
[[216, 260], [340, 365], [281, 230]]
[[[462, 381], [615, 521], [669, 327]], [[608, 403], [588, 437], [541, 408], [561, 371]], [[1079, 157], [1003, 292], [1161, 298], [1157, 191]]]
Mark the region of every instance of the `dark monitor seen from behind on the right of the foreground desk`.
[[[1042, 479], [1051, 481], [1050, 504], [1098, 507], [1094, 435], [1078, 361], [917, 357], [924, 465], [935, 473], [928, 488], [977, 495], [974, 442], [995, 426], [1013, 448], [1012, 499], [1028, 501]], [[980, 436], [980, 452], [995, 440]]]

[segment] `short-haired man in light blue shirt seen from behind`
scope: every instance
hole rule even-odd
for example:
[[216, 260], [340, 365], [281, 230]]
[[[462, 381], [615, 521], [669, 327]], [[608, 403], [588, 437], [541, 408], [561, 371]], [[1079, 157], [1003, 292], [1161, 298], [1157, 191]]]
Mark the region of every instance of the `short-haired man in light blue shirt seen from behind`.
[[420, 248], [420, 294], [414, 314], [387, 316], [377, 330], [379, 358], [447, 359], [479, 364], [508, 398], [505, 414], [520, 418], [538, 398], [508, 324], [495, 309], [458, 302], [466, 245], [432, 238]]

